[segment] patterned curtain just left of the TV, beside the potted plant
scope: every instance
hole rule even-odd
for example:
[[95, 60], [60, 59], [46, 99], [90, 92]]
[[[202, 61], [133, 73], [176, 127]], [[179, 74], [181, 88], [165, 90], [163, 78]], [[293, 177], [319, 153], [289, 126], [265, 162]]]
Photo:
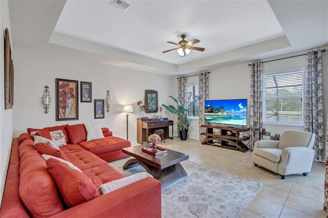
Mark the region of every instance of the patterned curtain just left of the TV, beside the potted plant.
[[205, 124], [205, 100], [209, 99], [209, 73], [202, 72], [198, 75], [198, 102], [199, 102], [199, 139], [204, 140], [206, 136], [200, 135], [206, 132], [206, 128], [200, 127]]

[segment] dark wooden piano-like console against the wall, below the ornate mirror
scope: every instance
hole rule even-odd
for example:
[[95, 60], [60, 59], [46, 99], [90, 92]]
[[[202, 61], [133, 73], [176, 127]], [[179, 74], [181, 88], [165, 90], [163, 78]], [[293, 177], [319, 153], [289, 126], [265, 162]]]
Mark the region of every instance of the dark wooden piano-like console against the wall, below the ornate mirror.
[[[172, 137], [170, 137], [169, 126], [172, 126]], [[152, 121], [152, 119], [137, 118], [137, 142], [142, 144], [148, 142], [148, 136], [154, 133], [157, 128], [164, 130], [163, 137], [173, 139], [173, 121], [163, 118], [162, 121]]]

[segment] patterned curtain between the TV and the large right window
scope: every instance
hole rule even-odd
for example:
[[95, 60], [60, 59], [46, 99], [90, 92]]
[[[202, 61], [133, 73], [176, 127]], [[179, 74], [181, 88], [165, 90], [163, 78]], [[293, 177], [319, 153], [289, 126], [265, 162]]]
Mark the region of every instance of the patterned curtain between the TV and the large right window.
[[262, 128], [262, 62], [251, 65], [251, 95], [250, 95], [250, 144], [253, 150], [254, 142], [260, 140]]

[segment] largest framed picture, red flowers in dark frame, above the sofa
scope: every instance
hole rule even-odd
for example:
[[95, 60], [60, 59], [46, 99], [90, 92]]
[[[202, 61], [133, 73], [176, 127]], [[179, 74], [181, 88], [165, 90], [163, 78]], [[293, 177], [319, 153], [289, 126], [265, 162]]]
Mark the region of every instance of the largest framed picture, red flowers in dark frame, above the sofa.
[[56, 121], [78, 120], [78, 82], [56, 79]]

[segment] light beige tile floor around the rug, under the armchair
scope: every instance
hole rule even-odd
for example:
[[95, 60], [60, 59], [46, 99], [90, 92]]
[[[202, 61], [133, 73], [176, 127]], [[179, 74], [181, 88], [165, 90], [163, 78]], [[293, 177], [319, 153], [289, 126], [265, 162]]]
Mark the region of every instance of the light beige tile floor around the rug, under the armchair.
[[252, 151], [202, 145], [201, 141], [166, 139], [159, 146], [189, 155], [189, 160], [258, 181], [262, 189], [238, 217], [326, 217], [323, 208], [324, 163], [314, 162], [308, 177], [289, 175], [285, 180], [267, 169], [255, 167]]

